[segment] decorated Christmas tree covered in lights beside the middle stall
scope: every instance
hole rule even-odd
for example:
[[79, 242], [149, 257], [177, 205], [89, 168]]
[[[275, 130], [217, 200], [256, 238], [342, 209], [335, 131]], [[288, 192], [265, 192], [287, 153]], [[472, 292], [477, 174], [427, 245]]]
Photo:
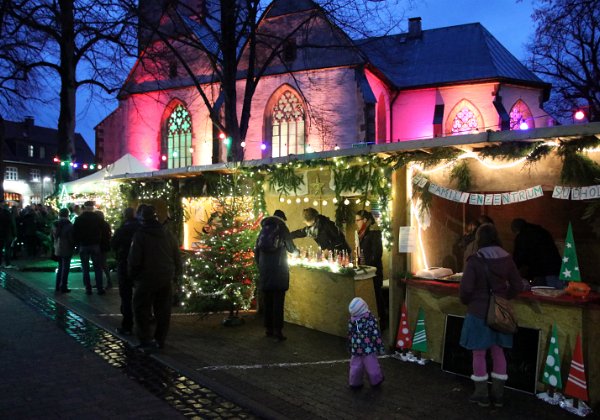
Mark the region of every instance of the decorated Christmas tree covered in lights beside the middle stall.
[[188, 255], [182, 281], [182, 306], [199, 313], [229, 310], [226, 325], [252, 306], [258, 276], [254, 245], [261, 217], [252, 211], [251, 185], [242, 181], [238, 174], [219, 176], [210, 228], [198, 232], [200, 248]]

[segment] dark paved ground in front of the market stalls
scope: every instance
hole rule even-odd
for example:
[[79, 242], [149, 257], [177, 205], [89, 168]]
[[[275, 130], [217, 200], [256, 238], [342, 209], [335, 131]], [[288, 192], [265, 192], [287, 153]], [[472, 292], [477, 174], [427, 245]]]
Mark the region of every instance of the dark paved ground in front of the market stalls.
[[[43, 304], [57, 302], [96, 324], [111, 346], [127, 352], [136, 344], [131, 337], [104, 331], [114, 331], [120, 322], [116, 289], [105, 296], [86, 296], [81, 274], [73, 273], [73, 292], [56, 295], [52, 273], [7, 270], [7, 274], [40, 292]], [[94, 354], [1, 288], [0, 307], [0, 417], [191, 416], [181, 408], [183, 403], [173, 404], [151, 392], [155, 379], [140, 379], [139, 375], [131, 379], [131, 374], [107, 363], [110, 359]], [[436, 363], [419, 366], [391, 357], [381, 359], [386, 380], [380, 389], [367, 385], [351, 391], [346, 386], [344, 339], [286, 325], [288, 340], [275, 342], [264, 336], [254, 313], [242, 317], [242, 326], [225, 327], [222, 314], [204, 318], [175, 315], [167, 347], [139, 364], [160, 362], [227, 402], [207, 402], [206, 411], [198, 416], [202, 418], [574, 418], [533, 395], [512, 390], [507, 390], [507, 402], [501, 409], [473, 406], [467, 402], [472, 391], [468, 379], [443, 372]]]

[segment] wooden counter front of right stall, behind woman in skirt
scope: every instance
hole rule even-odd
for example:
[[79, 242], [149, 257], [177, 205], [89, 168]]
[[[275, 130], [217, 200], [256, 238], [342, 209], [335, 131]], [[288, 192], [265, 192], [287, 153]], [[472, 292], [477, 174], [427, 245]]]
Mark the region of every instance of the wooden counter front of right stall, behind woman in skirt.
[[[409, 320], [414, 322], [419, 308], [425, 311], [428, 353], [442, 362], [444, 334], [448, 315], [464, 316], [466, 306], [460, 302], [459, 282], [430, 279], [404, 279]], [[583, 339], [584, 363], [588, 375], [588, 391], [592, 403], [600, 402], [600, 358], [594, 357], [600, 346], [600, 294], [591, 292], [586, 298], [563, 294], [557, 297], [539, 296], [526, 291], [512, 300], [519, 326], [540, 331], [537, 358], [542, 372], [552, 334], [558, 331], [559, 353], [562, 357], [563, 383], [566, 382], [571, 355], [577, 335]], [[536, 351], [536, 349], [532, 349]], [[542, 385], [538, 384], [541, 388]]]

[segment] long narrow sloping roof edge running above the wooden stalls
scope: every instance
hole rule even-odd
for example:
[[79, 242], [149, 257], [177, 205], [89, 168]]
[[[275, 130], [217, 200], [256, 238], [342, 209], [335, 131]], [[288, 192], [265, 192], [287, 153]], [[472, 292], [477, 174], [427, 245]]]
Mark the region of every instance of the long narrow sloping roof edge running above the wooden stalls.
[[[490, 144], [514, 141], [535, 142], [544, 140], [572, 140], [582, 136], [596, 136], [600, 139], [600, 122], [578, 125], [559, 125], [554, 127], [534, 128], [531, 130], [487, 131], [478, 134], [435, 137], [425, 140], [411, 140], [398, 143], [365, 143], [363, 147], [353, 147], [351, 149], [330, 150], [326, 152], [290, 155], [279, 158], [247, 160], [242, 162], [240, 166], [255, 167], [288, 163], [296, 160], [331, 159], [336, 157], [363, 156], [369, 154], [393, 155], [437, 147], [457, 147], [471, 150]], [[200, 175], [203, 172], [230, 172], [232, 170], [233, 163], [218, 163], [214, 165], [187, 166], [184, 168], [115, 175], [106, 177], [105, 179], [189, 178]]]

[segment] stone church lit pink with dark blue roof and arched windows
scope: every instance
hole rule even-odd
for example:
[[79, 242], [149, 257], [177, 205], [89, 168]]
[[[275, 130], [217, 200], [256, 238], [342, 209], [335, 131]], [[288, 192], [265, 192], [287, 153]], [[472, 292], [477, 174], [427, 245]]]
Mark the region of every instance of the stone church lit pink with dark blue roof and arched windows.
[[[260, 25], [285, 33], [308, 15], [310, 30], [288, 37], [252, 96], [245, 160], [553, 124], [543, 109], [550, 86], [478, 23], [422, 30], [412, 18], [405, 33], [353, 40], [312, 1], [292, 0], [274, 1]], [[197, 87], [181, 66], [153, 71], [144, 54], [118, 108], [96, 127], [101, 162], [126, 153], [157, 169], [224, 162], [225, 142]], [[189, 56], [217, 104], [202, 54]], [[240, 77], [240, 110], [244, 87]]]

